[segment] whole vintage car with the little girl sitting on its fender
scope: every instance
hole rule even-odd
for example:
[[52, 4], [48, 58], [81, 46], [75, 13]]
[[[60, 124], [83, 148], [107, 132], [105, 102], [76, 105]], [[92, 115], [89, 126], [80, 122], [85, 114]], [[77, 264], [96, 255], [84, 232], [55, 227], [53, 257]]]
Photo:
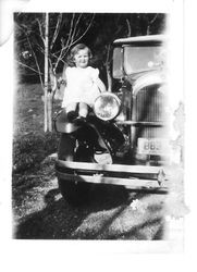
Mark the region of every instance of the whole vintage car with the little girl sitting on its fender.
[[[165, 46], [164, 35], [114, 40], [112, 89], [96, 100], [93, 112], [96, 120], [89, 119], [86, 129], [82, 126], [79, 129], [63, 114], [56, 119], [56, 128], [61, 133], [56, 171], [60, 190], [71, 202], [86, 194], [93, 183], [167, 189], [163, 169], [170, 150]], [[107, 152], [95, 156], [93, 151], [93, 160], [85, 151], [91, 135], [87, 124], [107, 144]], [[86, 149], [72, 157], [72, 152], [77, 153], [82, 138]]]

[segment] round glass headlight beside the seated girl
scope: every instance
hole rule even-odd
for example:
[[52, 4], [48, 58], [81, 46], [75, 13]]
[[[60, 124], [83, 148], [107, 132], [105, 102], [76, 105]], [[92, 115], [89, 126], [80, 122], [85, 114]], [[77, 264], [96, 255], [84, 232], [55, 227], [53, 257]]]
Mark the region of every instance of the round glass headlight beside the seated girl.
[[121, 101], [114, 94], [103, 92], [96, 99], [94, 111], [101, 120], [112, 120], [119, 114], [120, 104]]

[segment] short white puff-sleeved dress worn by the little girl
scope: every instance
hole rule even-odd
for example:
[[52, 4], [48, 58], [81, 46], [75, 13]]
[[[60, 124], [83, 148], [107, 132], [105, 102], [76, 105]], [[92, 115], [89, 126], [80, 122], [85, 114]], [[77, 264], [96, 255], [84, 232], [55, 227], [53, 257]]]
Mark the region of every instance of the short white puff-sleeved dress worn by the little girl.
[[91, 66], [85, 69], [67, 67], [64, 73], [66, 87], [62, 107], [64, 108], [72, 102], [85, 102], [91, 107], [95, 99], [100, 95], [96, 84], [99, 77], [99, 70]]

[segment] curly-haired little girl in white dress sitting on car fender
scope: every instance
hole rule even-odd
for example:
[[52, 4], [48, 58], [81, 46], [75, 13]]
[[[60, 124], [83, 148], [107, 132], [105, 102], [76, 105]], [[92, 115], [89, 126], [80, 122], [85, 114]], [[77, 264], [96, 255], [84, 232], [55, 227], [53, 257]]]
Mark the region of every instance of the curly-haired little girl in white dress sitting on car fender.
[[78, 44], [71, 50], [70, 60], [74, 65], [64, 71], [66, 87], [62, 102], [69, 121], [85, 119], [95, 99], [106, 91], [106, 86], [99, 78], [99, 70], [89, 66], [90, 59], [91, 51], [84, 44]]

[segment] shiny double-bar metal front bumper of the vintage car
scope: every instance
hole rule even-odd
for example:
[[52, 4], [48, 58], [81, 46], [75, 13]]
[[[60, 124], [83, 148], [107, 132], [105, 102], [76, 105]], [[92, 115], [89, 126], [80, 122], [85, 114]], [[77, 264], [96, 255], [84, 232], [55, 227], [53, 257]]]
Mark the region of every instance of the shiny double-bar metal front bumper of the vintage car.
[[165, 173], [160, 166], [98, 164], [58, 160], [57, 176], [73, 182], [113, 184], [130, 189], [167, 190]]

